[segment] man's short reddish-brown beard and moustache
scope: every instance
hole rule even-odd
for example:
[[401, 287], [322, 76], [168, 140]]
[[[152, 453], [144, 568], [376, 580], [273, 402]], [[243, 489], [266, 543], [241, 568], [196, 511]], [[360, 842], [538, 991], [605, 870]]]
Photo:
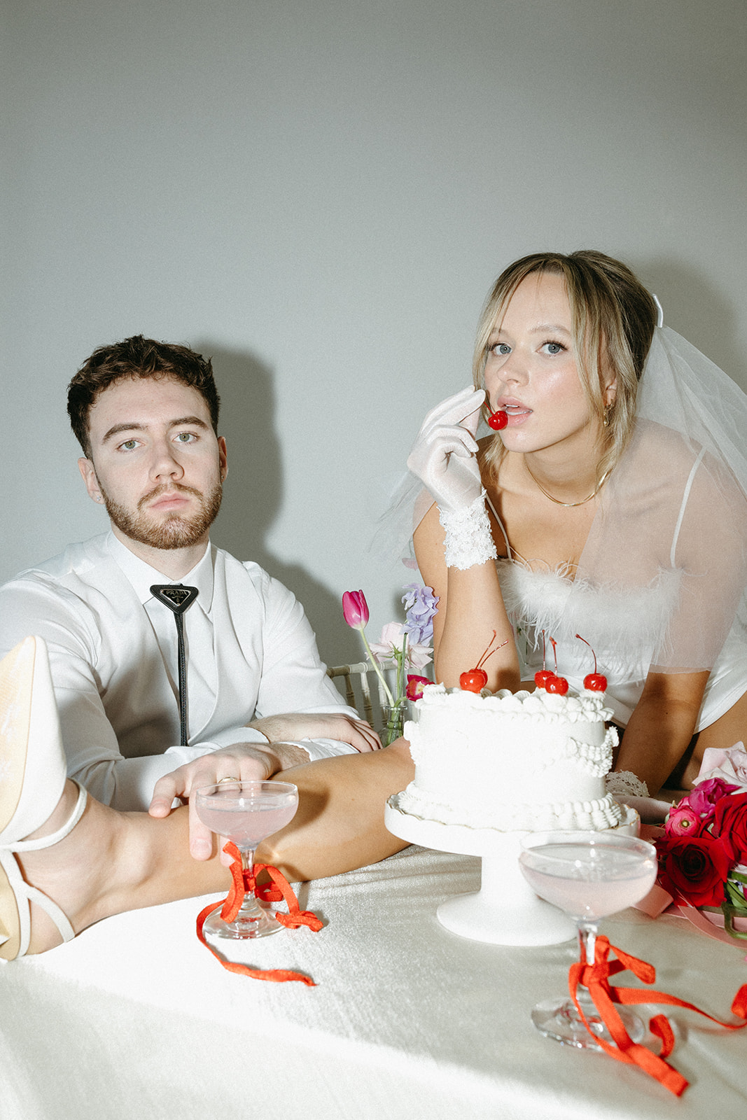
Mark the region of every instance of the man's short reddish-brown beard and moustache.
[[[106, 506], [106, 513], [116, 528], [133, 541], [147, 544], [151, 549], [188, 549], [202, 539], [218, 515], [221, 498], [223, 497], [223, 484], [218, 480], [212, 491], [202, 494], [192, 486], [180, 486], [174, 483], [171, 486], [157, 486], [150, 494], [138, 502], [138, 512], [131, 513], [125, 506], [120, 505], [109, 497], [101, 483], [99, 489]], [[199, 500], [199, 508], [190, 517], [184, 517], [174, 512], [167, 514], [162, 521], [153, 521], [143, 506], [152, 502], [160, 494], [177, 491], [181, 494], [193, 494]]]

